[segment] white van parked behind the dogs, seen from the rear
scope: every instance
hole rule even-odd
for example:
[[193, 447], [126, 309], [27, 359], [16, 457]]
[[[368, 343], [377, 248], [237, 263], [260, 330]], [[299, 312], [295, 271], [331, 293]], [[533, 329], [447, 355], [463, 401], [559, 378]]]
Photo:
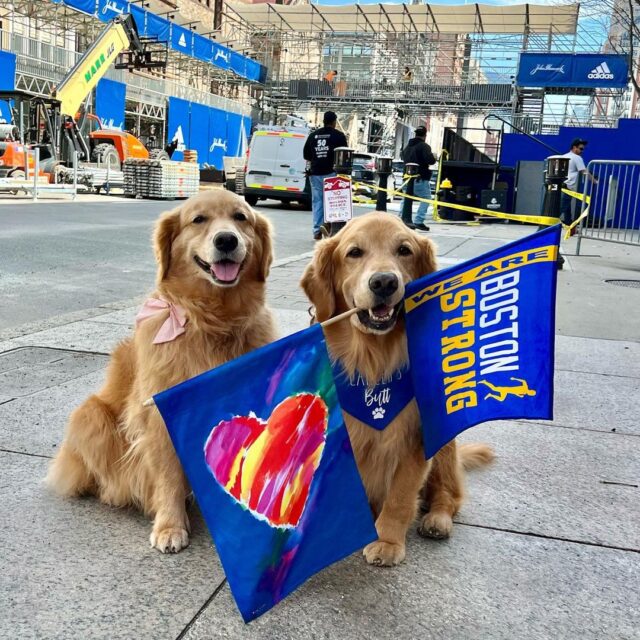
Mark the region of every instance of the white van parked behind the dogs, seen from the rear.
[[244, 174], [244, 198], [300, 202], [311, 208], [311, 189], [302, 156], [309, 132], [299, 127], [265, 127], [251, 137]]

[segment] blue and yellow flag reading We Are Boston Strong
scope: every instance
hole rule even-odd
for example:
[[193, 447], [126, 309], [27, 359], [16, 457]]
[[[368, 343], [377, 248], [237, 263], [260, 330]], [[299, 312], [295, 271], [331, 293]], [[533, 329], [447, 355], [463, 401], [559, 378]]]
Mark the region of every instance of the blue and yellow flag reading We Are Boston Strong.
[[559, 241], [557, 225], [407, 286], [428, 458], [487, 420], [553, 418]]

